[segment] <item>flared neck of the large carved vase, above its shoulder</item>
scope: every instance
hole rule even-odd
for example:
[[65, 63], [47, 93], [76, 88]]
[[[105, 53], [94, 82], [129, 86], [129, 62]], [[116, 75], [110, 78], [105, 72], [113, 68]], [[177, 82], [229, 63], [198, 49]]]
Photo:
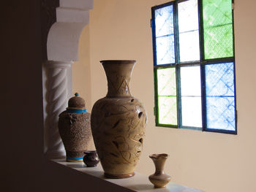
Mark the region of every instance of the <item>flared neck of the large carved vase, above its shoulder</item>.
[[129, 81], [135, 61], [101, 61], [108, 80], [107, 97], [130, 97]]

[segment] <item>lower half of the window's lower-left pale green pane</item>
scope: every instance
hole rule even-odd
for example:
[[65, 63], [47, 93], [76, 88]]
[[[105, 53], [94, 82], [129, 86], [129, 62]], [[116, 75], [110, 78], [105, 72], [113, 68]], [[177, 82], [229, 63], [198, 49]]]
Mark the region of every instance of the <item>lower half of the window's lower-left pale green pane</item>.
[[159, 123], [177, 125], [176, 96], [159, 96], [158, 106]]

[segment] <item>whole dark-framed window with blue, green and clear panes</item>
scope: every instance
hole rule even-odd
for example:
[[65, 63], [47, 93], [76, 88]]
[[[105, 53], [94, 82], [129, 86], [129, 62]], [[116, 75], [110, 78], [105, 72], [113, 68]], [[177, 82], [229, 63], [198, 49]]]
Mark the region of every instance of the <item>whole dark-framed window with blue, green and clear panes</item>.
[[236, 134], [231, 0], [152, 7], [156, 126]]

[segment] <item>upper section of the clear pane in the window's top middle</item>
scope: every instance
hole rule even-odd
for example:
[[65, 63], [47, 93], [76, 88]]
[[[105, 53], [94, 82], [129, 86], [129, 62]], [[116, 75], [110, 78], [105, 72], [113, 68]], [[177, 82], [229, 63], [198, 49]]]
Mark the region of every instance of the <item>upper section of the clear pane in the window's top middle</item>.
[[178, 3], [179, 33], [198, 30], [197, 0]]

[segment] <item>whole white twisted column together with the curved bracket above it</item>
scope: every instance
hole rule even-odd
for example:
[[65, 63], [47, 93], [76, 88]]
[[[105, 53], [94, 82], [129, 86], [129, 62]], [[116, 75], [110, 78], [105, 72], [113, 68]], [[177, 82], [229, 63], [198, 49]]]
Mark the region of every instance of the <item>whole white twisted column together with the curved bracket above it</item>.
[[44, 151], [48, 158], [65, 155], [59, 114], [72, 96], [72, 64], [78, 61], [80, 34], [92, 8], [93, 0], [42, 0]]

